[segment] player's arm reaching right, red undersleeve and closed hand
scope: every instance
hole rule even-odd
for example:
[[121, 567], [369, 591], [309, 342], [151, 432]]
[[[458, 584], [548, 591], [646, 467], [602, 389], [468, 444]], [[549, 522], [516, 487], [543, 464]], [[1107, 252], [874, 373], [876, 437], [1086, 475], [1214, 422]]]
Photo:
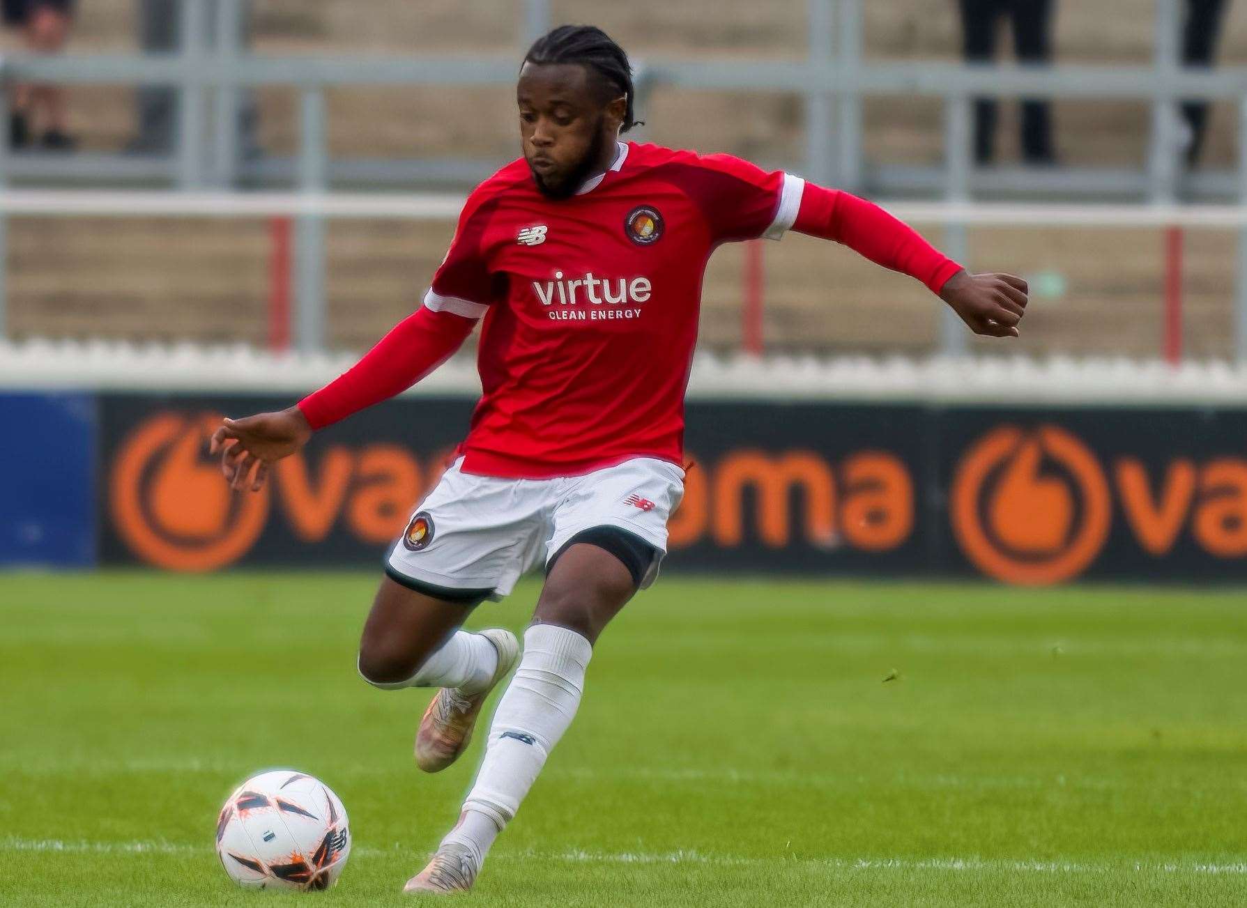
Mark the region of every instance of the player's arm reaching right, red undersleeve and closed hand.
[[879, 206], [848, 192], [806, 183], [793, 229], [834, 239], [885, 268], [918, 278], [975, 334], [1018, 337], [1026, 282], [1013, 274], [970, 274]]

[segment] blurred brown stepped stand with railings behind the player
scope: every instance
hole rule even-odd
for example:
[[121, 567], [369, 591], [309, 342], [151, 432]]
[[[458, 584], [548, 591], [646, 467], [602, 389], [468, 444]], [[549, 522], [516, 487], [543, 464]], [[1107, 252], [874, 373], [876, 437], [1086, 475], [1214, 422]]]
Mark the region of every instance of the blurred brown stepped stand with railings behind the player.
[[[1187, 166], [1198, 153], [1203, 135], [1190, 118], [1193, 111], [1196, 126], [1206, 121], [1201, 105], [1233, 105], [1240, 128], [1247, 130], [1241, 114], [1245, 67], [1212, 70], [1206, 65], [1228, 5], [1132, 0], [1136, 12], [1152, 12], [1152, 52], [1146, 62], [1069, 62], [1061, 61], [1060, 54], [1050, 62], [1038, 62], [1046, 59], [1039, 54], [1031, 62], [1028, 52], [1028, 62], [1021, 65], [958, 61], [959, 7], [951, 0], [941, 6], [943, 17], [935, 20], [940, 27], [946, 26], [946, 40], [941, 39], [946, 59], [868, 52], [868, 16], [882, 16], [884, 6], [880, 2], [868, 7], [862, 0], [794, 2], [784, 7], [784, 15], [793, 21], [774, 22], [777, 29], [788, 30], [783, 32], [788, 37], [766, 45], [768, 51], [731, 56], [693, 46], [681, 50], [682, 45], [665, 32], [650, 39], [643, 37], [643, 29], [638, 32], [642, 37], [625, 35], [643, 72], [638, 86], [643, 95], [641, 115], [652, 120], [643, 137], [722, 150], [722, 145], [702, 142], [698, 130], [705, 131], [705, 123], [688, 116], [705, 110], [705, 120], [722, 125], [713, 142], [739, 133], [728, 140], [727, 150], [762, 166], [782, 167], [885, 203], [940, 200], [948, 206], [945, 211], [971, 213], [976, 205], [991, 201], [1077, 203], [1082, 213], [1075, 218], [1065, 212], [1064, 226], [1052, 228], [1060, 234], [1031, 238], [1024, 231], [1040, 228], [1028, 222], [994, 221], [990, 229], [975, 231], [965, 222], [940, 216], [934, 223], [941, 232], [934, 238], [971, 267], [990, 259], [993, 267], [1028, 276], [1051, 273], [1052, 279], [1039, 281], [1036, 287], [1061, 289], [1054, 293], [1050, 307], [1035, 307], [1028, 342], [1019, 345], [1028, 353], [1247, 358], [1247, 237], [1236, 248], [1226, 239], [1238, 231], [1237, 226], [1227, 226], [1222, 218], [1216, 234], [1210, 232], [1212, 228], [1202, 231], [1205, 222], [1200, 218], [1206, 202], [1231, 205], [1243, 197], [1247, 150], [1240, 141], [1233, 166], [1226, 166], [1223, 148], [1198, 170]], [[6, 220], [5, 212], [25, 212], [16, 223], [0, 223], [0, 244], [7, 239], [10, 249], [0, 254], [0, 307], [7, 304], [10, 316], [6, 319], [0, 309], [0, 334], [247, 343], [288, 337], [303, 350], [367, 344], [367, 338], [409, 311], [412, 288], [423, 279], [414, 272], [435, 266], [450, 223], [439, 221], [425, 229], [414, 222], [403, 227], [375, 222], [329, 229], [324, 208], [313, 200], [343, 191], [435, 191], [449, 193], [445, 198], [461, 198], [468, 187], [514, 153], [511, 137], [496, 145], [474, 137], [510, 130], [501, 111], [514, 86], [518, 55], [556, 16], [565, 16], [567, 7], [552, 0], [522, 0], [508, 6], [510, 17], [499, 21], [496, 15], [471, 19], [468, 7], [439, 6], [445, 21], [430, 19], [426, 24], [424, 19], [434, 15], [431, 7], [378, 5], [375, 16], [368, 19], [370, 31], [360, 32], [372, 35], [369, 40], [385, 41], [388, 17], [402, 20], [412, 30], [410, 36], [423, 35], [435, 25], [444, 30], [441, 34], [460, 35], [459, 44], [425, 44], [419, 51], [408, 50], [403, 40], [388, 40], [385, 47], [398, 49], [393, 55], [372, 46], [343, 50], [338, 31], [348, 20], [335, 19], [330, 11], [340, 15], [345, 7], [332, 4], [253, 10], [242, 0], [142, 0], [130, 9], [141, 26], [137, 34], [142, 54], [117, 51], [115, 42], [97, 44], [91, 52], [81, 54], [16, 52], [0, 64], [0, 79], [6, 85], [59, 82], [71, 92], [99, 92], [92, 95], [96, 97], [111, 92], [110, 99], [118, 91], [137, 91], [132, 115], [137, 122], [111, 148], [87, 132], [82, 150], [74, 155], [0, 147], [0, 182], [11, 190], [31, 191], [108, 187], [200, 193], [242, 187], [296, 188], [307, 201], [297, 206], [293, 220], [248, 223], [238, 216], [222, 221], [216, 246], [190, 239], [191, 233], [208, 229], [202, 218], [178, 222], [176, 229], [172, 223], [136, 223], [133, 229], [158, 238], [153, 244], [128, 242], [85, 223], [74, 226], [54, 217], [46, 206], [39, 208], [29, 197], [19, 202], [12, 201], [12, 193], [0, 193], [0, 221]], [[1044, 0], [1036, 9], [1044, 15], [1033, 16], [1026, 30], [1038, 30], [1042, 37], [1046, 20], [1072, 15], [1075, 7], [1050, 6]], [[894, 19], [900, 10], [898, 4], [888, 15]], [[696, 20], [693, 11], [678, 15]], [[602, 24], [615, 30], [637, 16], [604, 14]], [[1096, 16], [1099, 26], [1104, 26], [1109, 20], [1100, 20], [1120, 19], [1121, 12], [1114, 7]], [[693, 20], [683, 27], [698, 35], [710, 27]], [[923, 21], [930, 20], [925, 16]], [[878, 29], [879, 21], [892, 20], [883, 16], [874, 21]], [[446, 22], [455, 27], [446, 31]], [[79, 34], [84, 31], [81, 25]], [[1131, 22], [1132, 34], [1140, 31], [1137, 25]], [[95, 27], [99, 35], [104, 21], [97, 20]], [[315, 40], [293, 41], [292, 29], [303, 29], [301, 34]], [[494, 30], [488, 50], [463, 44], [483, 29]], [[513, 31], [510, 39], [506, 29]], [[259, 40], [258, 35], [266, 37]], [[1045, 44], [1039, 41], [1040, 50]], [[983, 118], [978, 118], [976, 142], [976, 105], [981, 110], [981, 101], [1018, 97], [1026, 105], [1052, 104], [1057, 111], [1102, 105], [1114, 116], [1129, 114], [1131, 132], [1122, 133], [1122, 142], [1134, 143], [1140, 153], [1079, 158], [1066, 150], [1077, 145], [1080, 136], [1071, 133], [1067, 125], [1062, 128], [1060, 117], [1050, 127], [1055, 135], [1045, 138], [1045, 117], [1033, 116], [1035, 128], [1029, 135], [1034, 141], [1024, 143], [1021, 162], [1009, 163], [1005, 155], [996, 155], [991, 166], [980, 166], [976, 145], [983, 141]], [[682, 99], [680, 106], [672, 109], [672, 99]], [[701, 99], [706, 99], [705, 105]], [[748, 117], [725, 115], [725, 99], [734, 105], [732, 111], [747, 112]], [[496, 111], [489, 106], [495, 102], [500, 105]], [[476, 121], [488, 122], [493, 132], [473, 132], [465, 126], [466, 118], [446, 110], [448, 105], [476, 104], [484, 105], [479, 110], [485, 112], [470, 125], [475, 128]], [[889, 106], [895, 109], [889, 111], [892, 121], [907, 125], [905, 141], [919, 138], [930, 145], [929, 150], [924, 146], [919, 153], [899, 160], [878, 153], [877, 145], [872, 146], [870, 111]], [[473, 106], [456, 110], [478, 111]], [[672, 115], [671, 110], [677, 112]], [[1142, 125], [1141, 111], [1147, 111], [1150, 127]], [[84, 118], [94, 115], [84, 111]], [[769, 138], [774, 123], [787, 128], [789, 120], [791, 140], [752, 147], [754, 133]], [[102, 121], [97, 121], [91, 120], [99, 127]], [[729, 127], [737, 133], [731, 133]], [[1226, 130], [1218, 127], [1217, 133], [1223, 146]], [[430, 136], [438, 141], [428, 141]], [[1035, 153], [1028, 153], [1025, 145]], [[1046, 150], [1060, 145], [1062, 166], [1026, 165], [1028, 158], [1045, 156], [1045, 145]], [[1082, 142], [1079, 147], [1089, 146]], [[55, 193], [45, 196], [49, 203], [56, 198], [60, 196]], [[115, 198], [122, 207], [133, 206], [125, 195]], [[222, 198], [213, 205], [226, 211], [242, 198]], [[1170, 227], [1141, 227], [1137, 233], [1122, 232], [1129, 227], [1116, 232], [1082, 229], [1102, 221], [1096, 206], [1122, 203], [1152, 212], [1170, 211], [1167, 206], [1173, 205], [1190, 207], [1183, 207], [1180, 220]], [[36, 210], [42, 213], [36, 216]], [[1143, 212], [1136, 222], [1153, 225], [1155, 218]], [[1198, 242], [1188, 241], [1188, 234]], [[157, 244], [171, 251], [181, 236], [195, 252], [193, 267], [211, 266], [211, 273], [201, 281], [186, 281], [190, 266], [172, 264], [176, 257], [171, 252], [151, 256]], [[802, 243], [794, 238], [783, 247], [725, 249], [716, 256], [707, 278], [707, 311], [736, 307], [742, 316], [738, 331], [725, 327], [732, 319], [706, 319], [707, 345], [721, 350], [743, 344], [752, 352], [867, 350], [907, 355], [981, 349], [955, 318], [938, 314], [940, 311], [922, 298], [920, 288], [884, 284], [865, 272], [858, 278], [852, 262], [838, 262], [834, 283], [827, 283], [822, 261], [826, 253], [816, 254], [812, 246]], [[86, 256], [90, 262], [66, 267], [67, 257], [80, 251], [85, 256], [89, 246], [95, 247]], [[209, 262], [206, 249], [212, 248], [221, 249], [221, 263]], [[150, 259], [146, 264], [138, 256], [145, 249]], [[122, 269], [120, 263], [130, 257], [135, 264]], [[368, 269], [355, 267], [362, 257]], [[1114, 268], [1105, 268], [1106, 261], [1112, 261]], [[118, 263], [117, 269], [110, 272], [101, 262]], [[781, 264], [768, 268], [768, 262]], [[90, 276], [89, 264], [95, 269]], [[14, 281], [6, 271], [15, 271], [20, 279]], [[244, 274], [253, 277], [243, 279]], [[379, 276], [384, 274], [393, 274], [393, 279], [385, 278], [383, 286]], [[332, 286], [335, 282], [337, 289]], [[2, 292], [5, 286], [7, 294]], [[170, 322], [155, 313], [163, 312], [173, 287], [183, 314]], [[209, 292], [209, 287], [218, 289]], [[271, 303], [262, 311], [256, 303], [266, 296], [266, 287]], [[1200, 317], [1191, 318], [1188, 303], [1196, 303], [1186, 296], [1193, 299], [1196, 294], [1202, 309]], [[105, 297], [106, 306], [101, 302]], [[835, 302], [834, 319], [819, 314], [827, 297]], [[342, 308], [348, 304], [349, 309]], [[1131, 307], [1127, 324], [1121, 324], [1122, 304]], [[375, 314], [365, 314], [365, 306], [373, 306]], [[234, 313], [229, 318], [224, 317], [227, 308]], [[15, 321], [12, 313], [19, 309], [22, 316]], [[288, 312], [289, 319], [274, 319], [272, 312]], [[262, 327], [276, 321], [289, 322], [288, 329]], [[880, 326], [899, 326], [903, 331], [882, 331]], [[1077, 326], [1077, 331], [1062, 333], [1061, 326]]]

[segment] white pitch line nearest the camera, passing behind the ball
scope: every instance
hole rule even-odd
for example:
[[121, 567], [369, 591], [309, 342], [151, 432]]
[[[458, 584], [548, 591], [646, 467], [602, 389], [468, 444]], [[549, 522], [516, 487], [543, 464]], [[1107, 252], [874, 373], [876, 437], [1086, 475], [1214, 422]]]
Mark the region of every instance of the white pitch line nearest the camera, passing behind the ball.
[[[131, 842], [94, 842], [89, 839], [56, 839], [56, 838], [17, 838], [9, 837], [0, 839], [0, 852], [44, 852], [62, 854], [209, 854], [212, 847], [203, 844], [188, 844], [181, 842], [165, 841], [131, 841]], [[404, 849], [399, 843], [389, 848], [353, 847], [352, 854], [360, 857], [385, 857], [402, 853]], [[423, 854], [416, 849], [410, 849], [413, 859], [421, 859]], [[986, 858], [833, 858], [833, 857], [741, 857], [732, 854], [706, 854], [698, 851], [673, 851], [673, 852], [590, 852], [572, 849], [567, 852], [501, 852], [494, 856], [495, 861], [561, 861], [570, 863], [605, 863], [605, 864], [706, 864], [712, 867], [753, 867], [753, 866], [782, 866], [794, 867], [824, 867], [839, 871], [1005, 871], [1028, 873], [1105, 873], [1131, 871], [1136, 873], [1203, 873], [1211, 876], [1247, 876], [1247, 862], [1228, 864], [1215, 863], [1140, 863], [1112, 864], [1112, 863], [1080, 863], [1066, 861], [1010, 861]]]

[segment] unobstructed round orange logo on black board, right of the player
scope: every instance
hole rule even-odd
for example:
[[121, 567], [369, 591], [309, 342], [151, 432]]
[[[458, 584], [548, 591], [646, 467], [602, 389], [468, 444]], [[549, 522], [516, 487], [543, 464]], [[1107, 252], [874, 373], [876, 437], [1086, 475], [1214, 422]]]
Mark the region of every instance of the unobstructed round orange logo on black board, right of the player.
[[1065, 429], [1001, 427], [961, 458], [950, 518], [966, 558], [998, 580], [1056, 584], [1077, 576], [1109, 536], [1109, 483]]

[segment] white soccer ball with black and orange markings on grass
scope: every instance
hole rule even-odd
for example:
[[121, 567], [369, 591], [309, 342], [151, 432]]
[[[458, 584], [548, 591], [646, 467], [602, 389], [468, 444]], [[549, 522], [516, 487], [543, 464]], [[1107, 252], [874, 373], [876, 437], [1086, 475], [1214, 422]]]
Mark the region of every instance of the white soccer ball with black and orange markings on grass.
[[303, 772], [272, 770], [234, 790], [217, 819], [217, 856], [249, 889], [328, 889], [350, 854], [347, 811]]

